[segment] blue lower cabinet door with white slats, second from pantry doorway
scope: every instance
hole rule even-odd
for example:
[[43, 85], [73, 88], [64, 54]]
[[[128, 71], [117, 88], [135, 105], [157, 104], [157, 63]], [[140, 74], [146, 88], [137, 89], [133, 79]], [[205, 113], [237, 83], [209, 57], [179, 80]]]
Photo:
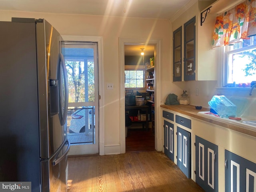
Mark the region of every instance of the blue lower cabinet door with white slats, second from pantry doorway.
[[177, 166], [191, 178], [191, 133], [177, 126]]

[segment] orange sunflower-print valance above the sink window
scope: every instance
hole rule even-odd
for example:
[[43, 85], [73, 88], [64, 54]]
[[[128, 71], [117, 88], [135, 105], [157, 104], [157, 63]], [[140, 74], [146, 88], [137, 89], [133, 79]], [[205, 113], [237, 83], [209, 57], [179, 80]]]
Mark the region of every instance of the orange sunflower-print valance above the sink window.
[[256, 0], [246, 0], [217, 16], [212, 46], [226, 46], [256, 35]]

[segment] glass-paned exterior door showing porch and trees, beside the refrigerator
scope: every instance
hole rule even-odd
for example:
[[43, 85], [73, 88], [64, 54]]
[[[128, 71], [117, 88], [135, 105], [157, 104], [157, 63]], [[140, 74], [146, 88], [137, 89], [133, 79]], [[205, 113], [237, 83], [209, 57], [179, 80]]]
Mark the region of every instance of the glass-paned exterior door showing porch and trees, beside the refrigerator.
[[61, 45], [68, 73], [69, 154], [98, 153], [97, 43], [63, 41]]

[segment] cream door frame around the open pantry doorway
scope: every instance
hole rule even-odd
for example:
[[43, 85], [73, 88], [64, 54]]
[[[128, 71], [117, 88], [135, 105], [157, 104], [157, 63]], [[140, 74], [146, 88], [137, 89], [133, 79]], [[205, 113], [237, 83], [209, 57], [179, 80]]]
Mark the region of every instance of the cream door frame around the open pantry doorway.
[[155, 84], [154, 97], [155, 103], [155, 149], [162, 151], [162, 128], [161, 128], [161, 60], [162, 60], [162, 40], [161, 39], [132, 39], [119, 38], [119, 64], [120, 64], [120, 152], [125, 153], [125, 88], [124, 88], [124, 45], [154, 45], [155, 72], [154, 77], [157, 79]]

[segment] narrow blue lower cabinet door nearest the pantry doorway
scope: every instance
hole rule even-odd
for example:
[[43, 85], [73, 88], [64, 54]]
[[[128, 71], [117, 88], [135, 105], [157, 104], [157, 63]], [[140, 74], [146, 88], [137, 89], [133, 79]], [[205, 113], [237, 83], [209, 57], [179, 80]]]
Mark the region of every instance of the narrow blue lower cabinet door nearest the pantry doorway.
[[174, 124], [164, 120], [164, 154], [174, 161]]

